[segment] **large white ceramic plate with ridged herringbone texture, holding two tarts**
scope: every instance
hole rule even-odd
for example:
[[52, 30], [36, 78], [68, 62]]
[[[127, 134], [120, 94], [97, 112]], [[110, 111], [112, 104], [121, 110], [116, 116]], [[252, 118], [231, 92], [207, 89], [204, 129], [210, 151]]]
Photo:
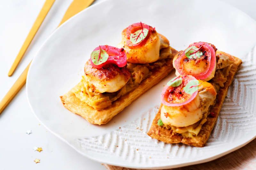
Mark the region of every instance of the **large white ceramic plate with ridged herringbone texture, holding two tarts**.
[[[156, 27], [177, 50], [205, 41], [243, 60], [204, 148], [165, 144], [147, 136], [163, 85], [173, 72], [106, 125], [92, 125], [62, 106], [59, 96], [80, 81], [92, 50], [98, 45], [116, 46], [122, 30], [140, 21]], [[220, 1], [104, 1], [68, 20], [45, 41], [28, 72], [29, 104], [47, 129], [95, 161], [142, 169], [203, 163], [256, 136], [255, 44], [256, 21]]]

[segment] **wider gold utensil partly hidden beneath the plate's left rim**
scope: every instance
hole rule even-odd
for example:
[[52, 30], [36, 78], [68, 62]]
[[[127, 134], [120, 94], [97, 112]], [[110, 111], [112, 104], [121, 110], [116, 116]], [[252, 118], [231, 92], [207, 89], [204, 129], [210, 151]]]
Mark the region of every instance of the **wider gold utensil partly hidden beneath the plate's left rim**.
[[[78, 12], [84, 10], [88, 6], [92, 4], [94, 0], [74, 0], [72, 4], [69, 6], [68, 10], [66, 11], [64, 17], [61, 20], [61, 24], [71, 18], [72, 16], [76, 15]], [[69, 15], [67, 13], [72, 13]], [[68, 18], [69, 17], [69, 18]], [[60, 25], [61, 25], [60, 24]], [[60, 26], [59, 25], [59, 26]], [[0, 114], [4, 111], [4, 109], [8, 106], [8, 104], [12, 101], [12, 99], [16, 96], [16, 94], [20, 91], [23, 85], [26, 84], [28, 69], [31, 62], [28, 64], [28, 67], [23, 71], [17, 81], [14, 83], [12, 88], [7, 92], [4, 96], [4, 99], [0, 101]]]

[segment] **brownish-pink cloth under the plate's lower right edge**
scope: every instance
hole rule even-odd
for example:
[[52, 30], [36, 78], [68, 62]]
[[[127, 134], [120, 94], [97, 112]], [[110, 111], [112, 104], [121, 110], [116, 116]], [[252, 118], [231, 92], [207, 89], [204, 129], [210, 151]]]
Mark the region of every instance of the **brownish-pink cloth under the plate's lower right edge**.
[[[103, 164], [108, 170], [139, 170]], [[255, 170], [256, 139], [244, 147], [223, 157], [203, 164], [173, 168], [168, 170]]]

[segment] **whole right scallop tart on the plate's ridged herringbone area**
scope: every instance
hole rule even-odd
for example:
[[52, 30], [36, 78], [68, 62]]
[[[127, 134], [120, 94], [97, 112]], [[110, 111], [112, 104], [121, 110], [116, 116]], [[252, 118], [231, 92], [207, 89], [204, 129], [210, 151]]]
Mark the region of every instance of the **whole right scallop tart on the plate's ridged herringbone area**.
[[203, 147], [241, 64], [239, 58], [206, 42], [180, 51], [173, 59], [177, 77], [164, 87], [148, 135], [166, 143]]

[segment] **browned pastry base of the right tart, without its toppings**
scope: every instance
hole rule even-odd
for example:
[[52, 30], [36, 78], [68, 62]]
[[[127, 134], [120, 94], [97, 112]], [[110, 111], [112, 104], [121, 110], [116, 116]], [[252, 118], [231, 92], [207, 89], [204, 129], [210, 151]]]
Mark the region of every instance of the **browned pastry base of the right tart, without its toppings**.
[[165, 143], [169, 144], [175, 144], [175, 143], [184, 143], [193, 145], [196, 147], [204, 147], [207, 140], [209, 139], [212, 129], [214, 128], [215, 123], [217, 122], [220, 109], [222, 107], [222, 104], [224, 102], [224, 99], [228, 93], [228, 88], [233, 82], [233, 78], [236, 75], [236, 72], [239, 70], [242, 60], [239, 58], [235, 58], [235, 62], [233, 63], [231, 70], [229, 71], [228, 80], [224, 84], [224, 87], [220, 88], [220, 91], [218, 92], [216, 99], [218, 102], [216, 102], [215, 106], [210, 111], [211, 113], [215, 113], [214, 117], [208, 116], [207, 121], [203, 124], [201, 131], [195, 138], [188, 138], [188, 137], [182, 137], [182, 135], [178, 133], [172, 132], [172, 129], [166, 129], [163, 126], [160, 126], [159, 128], [159, 135], [158, 135], [158, 125], [157, 121], [161, 118], [161, 108], [163, 104], [161, 104], [158, 113], [156, 114], [155, 119], [153, 120], [153, 123], [148, 131], [148, 136], [156, 138], [158, 140], [161, 140]]

